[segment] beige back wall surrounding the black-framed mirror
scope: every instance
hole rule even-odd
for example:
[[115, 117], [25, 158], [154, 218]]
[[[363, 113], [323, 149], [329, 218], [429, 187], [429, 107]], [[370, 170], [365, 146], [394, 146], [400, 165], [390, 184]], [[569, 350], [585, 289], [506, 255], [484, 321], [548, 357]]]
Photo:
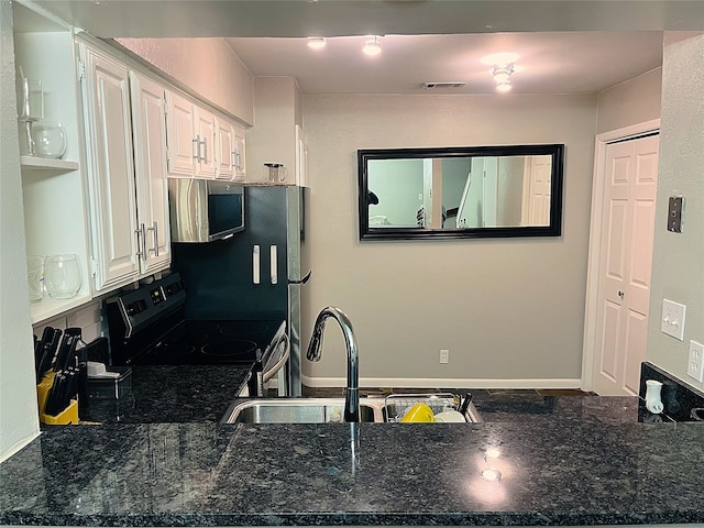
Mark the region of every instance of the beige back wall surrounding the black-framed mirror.
[[[348, 312], [363, 384], [579, 386], [595, 118], [595, 96], [304, 96], [308, 319]], [[358, 148], [526, 143], [566, 144], [562, 237], [359, 241]], [[342, 386], [344, 371], [329, 329], [307, 382]]]

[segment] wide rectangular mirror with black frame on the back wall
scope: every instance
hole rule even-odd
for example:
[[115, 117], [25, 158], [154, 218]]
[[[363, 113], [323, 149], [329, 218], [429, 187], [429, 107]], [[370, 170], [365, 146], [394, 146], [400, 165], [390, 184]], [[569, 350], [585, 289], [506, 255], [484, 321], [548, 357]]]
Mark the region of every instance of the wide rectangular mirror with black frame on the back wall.
[[360, 240], [559, 237], [564, 145], [358, 151]]

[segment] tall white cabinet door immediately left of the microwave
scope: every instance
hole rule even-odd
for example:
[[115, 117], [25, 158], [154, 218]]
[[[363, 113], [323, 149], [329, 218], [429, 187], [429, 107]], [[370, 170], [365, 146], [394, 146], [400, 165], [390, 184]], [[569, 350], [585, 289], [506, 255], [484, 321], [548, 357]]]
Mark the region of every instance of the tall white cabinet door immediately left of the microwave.
[[164, 88], [130, 72], [136, 184], [140, 271], [154, 273], [170, 263]]

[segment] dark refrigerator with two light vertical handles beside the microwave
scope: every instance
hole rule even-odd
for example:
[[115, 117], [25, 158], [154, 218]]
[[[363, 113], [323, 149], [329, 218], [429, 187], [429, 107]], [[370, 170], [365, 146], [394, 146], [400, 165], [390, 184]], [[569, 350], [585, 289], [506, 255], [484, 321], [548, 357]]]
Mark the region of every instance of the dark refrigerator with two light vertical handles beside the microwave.
[[174, 244], [172, 268], [186, 283], [187, 320], [286, 320], [288, 393], [300, 396], [301, 309], [311, 276], [306, 244], [308, 189], [245, 186], [244, 231], [208, 243]]

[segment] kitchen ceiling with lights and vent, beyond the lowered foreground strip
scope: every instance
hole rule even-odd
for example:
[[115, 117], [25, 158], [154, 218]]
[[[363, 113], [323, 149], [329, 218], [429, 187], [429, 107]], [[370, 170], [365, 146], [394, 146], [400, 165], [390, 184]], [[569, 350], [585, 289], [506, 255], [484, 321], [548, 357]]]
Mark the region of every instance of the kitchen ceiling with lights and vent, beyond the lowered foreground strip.
[[[382, 53], [362, 53], [364, 36], [327, 38], [321, 50], [307, 38], [227, 38], [256, 76], [294, 76], [304, 94], [494, 94], [492, 66], [482, 57], [519, 55], [513, 94], [601, 91], [662, 64], [661, 32], [483, 33], [387, 35]], [[424, 82], [465, 82], [424, 89]]]

